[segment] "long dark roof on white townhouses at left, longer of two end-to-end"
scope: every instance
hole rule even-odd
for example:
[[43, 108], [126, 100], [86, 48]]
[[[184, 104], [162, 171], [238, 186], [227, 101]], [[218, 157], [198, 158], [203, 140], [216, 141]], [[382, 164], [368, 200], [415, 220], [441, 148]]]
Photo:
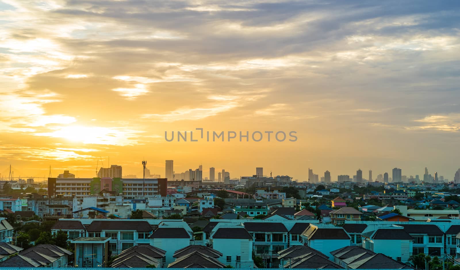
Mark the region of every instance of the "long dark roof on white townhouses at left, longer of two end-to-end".
[[141, 232], [150, 232], [152, 226], [147, 221], [142, 220], [94, 220], [87, 231], [102, 231], [102, 230], [137, 230]]

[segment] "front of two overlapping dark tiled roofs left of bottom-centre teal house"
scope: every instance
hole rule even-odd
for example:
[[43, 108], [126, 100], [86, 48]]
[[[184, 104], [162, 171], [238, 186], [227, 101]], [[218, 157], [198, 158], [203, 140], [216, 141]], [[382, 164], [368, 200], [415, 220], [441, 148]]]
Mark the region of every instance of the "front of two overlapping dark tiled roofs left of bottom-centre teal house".
[[168, 268], [224, 268], [226, 265], [198, 251], [177, 258]]

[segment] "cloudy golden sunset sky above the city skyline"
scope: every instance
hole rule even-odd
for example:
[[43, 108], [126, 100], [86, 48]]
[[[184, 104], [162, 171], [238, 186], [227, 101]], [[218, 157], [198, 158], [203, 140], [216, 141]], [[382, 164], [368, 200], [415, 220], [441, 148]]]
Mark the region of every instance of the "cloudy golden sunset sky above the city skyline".
[[[460, 2], [0, 0], [0, 173], [460, 167]], [[167, 142], [165, 131], [297, 140]], [[177, 134], [177, 133], [176, 133]], [[190, 134], [189, 134], [190, 135]], [[194, 134], [196, 135], [196, 134]], [[110, 161], [109, 158], [110, 157]]]

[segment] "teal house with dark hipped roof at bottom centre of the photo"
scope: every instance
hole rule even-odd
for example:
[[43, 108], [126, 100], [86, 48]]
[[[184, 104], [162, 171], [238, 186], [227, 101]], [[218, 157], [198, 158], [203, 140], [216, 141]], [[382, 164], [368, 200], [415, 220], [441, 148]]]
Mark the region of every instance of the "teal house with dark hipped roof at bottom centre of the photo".
[[237, 268], [253, 268], [253, 236], [244, 227], [217, 226], [210, 238], [210, 246], [224, 254], [219, 258], [221, 263], [236, 263], [239, 266]]

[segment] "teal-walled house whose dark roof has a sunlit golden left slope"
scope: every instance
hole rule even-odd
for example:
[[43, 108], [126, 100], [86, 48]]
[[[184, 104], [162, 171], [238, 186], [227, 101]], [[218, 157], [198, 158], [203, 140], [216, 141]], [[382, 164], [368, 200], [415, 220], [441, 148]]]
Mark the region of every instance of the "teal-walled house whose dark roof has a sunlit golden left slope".
[[[323, 254], [330, 254], [337, 247], [346, 247], [351, 244], [351, 237], [341, 227], [320, 227], [313, 224], [302, 233], [302, 243], [314, 248]], [[329, 259], [333, 259], [329, 256]]]

